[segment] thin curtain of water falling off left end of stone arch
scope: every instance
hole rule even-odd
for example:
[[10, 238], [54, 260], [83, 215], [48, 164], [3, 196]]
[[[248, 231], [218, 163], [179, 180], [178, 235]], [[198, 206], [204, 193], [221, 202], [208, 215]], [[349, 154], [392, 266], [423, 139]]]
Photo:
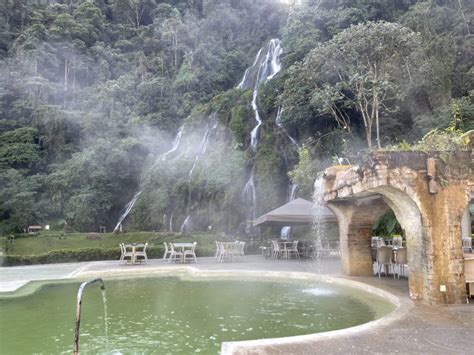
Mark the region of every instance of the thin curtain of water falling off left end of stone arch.
[[324, 185], [325, 180], [321, 176], [318, 176], [314, 182], [314, 206], [313, 206], [313, 233], [315, 236], [315, 247], [316, 247], [316, 258], [321, 258], [325, 251], [327, 251], [327, 236], [325, 230], [325, 224], [323, 223], [323, 215], [325, 211], [324, 206]]

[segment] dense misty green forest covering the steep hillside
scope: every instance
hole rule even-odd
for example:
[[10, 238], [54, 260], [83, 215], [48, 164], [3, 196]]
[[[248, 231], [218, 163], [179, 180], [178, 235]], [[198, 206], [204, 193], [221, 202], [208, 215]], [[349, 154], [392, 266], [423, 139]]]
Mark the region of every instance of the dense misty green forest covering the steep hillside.
[[2, 0], [0, 233], [112, 230], [134, 197], [129, 230], [235, 230], [337, 157], [473, 129], [473, 25], [469, 0]]

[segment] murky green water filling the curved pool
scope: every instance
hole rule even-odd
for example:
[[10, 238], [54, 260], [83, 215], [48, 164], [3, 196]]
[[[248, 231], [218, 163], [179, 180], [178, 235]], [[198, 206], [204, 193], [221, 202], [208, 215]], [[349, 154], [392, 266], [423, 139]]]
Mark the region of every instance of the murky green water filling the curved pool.
[[[224, 341], [347, 328], [394, 308], [353, 288], [308, 281], [155, 277], [105, 284], [107, 334], [100, 288], [84, 293], [83, 354], [217, 354]], [[0, 353], [71, 353], [78, 287], [46, 284], [0, 300]]]

